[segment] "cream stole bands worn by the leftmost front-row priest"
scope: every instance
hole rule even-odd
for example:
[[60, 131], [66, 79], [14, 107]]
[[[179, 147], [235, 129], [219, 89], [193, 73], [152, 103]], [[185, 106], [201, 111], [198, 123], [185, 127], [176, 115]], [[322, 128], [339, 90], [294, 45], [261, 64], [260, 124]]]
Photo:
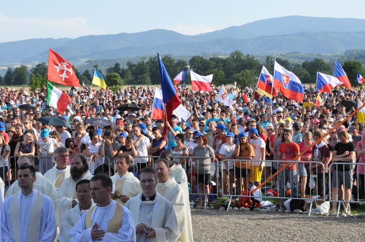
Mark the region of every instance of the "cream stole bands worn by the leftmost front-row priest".
[[[21, 191], [19, 191], [21, 192]], [[19, 197], [19, 192], [13, 196], [12, 200], [17, 200]], [[37, 193], [37, 200], [33, 203], [34, 199], [32, 198], [31, 211], [29, 214], [28, 221], [28, 238], [27, 241], [38, 241], [39, 240], [39, 232], [40, 232], [40, 219], [42, 212], [42, 202], [43, 196], [39, 191], [34, 191]], [[34, 196], [35, 194], [33, 194]], [[20, 201], [20, 200], [19, 200]], [[20, 203], [20, 202], [19, 202]], [[36, 206], [35, 206], [36, 205]], [[10, 224], [11, 230], [13, 231], [13, 239], [15, 242], [20, 242], [20, 207], [18, 206], [18, 201], [12, 201], [10, 205]]]

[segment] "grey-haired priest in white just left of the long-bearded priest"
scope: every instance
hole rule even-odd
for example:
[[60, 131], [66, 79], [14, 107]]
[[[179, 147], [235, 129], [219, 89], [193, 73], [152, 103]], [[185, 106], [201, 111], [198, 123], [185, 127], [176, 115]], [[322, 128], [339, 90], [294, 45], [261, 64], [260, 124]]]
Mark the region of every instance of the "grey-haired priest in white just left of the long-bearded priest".
[[62, 146], [58, 147], [53, 156], [56, 164], [43, 176], [52, 182], [56, 190], [59, 190], [63, 181], [70, 177], [70, 166], [67, 165], [69, 162], [69, 150]]

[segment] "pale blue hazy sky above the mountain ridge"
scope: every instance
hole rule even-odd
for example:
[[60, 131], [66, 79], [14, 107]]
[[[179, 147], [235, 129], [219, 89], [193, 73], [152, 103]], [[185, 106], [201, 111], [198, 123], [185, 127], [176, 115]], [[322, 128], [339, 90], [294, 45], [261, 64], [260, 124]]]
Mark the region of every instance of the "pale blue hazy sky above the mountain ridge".
[[291, 15], [365, 18], [364, 0], [7, 0], [0, 43], [166, 29], [197, 35]]

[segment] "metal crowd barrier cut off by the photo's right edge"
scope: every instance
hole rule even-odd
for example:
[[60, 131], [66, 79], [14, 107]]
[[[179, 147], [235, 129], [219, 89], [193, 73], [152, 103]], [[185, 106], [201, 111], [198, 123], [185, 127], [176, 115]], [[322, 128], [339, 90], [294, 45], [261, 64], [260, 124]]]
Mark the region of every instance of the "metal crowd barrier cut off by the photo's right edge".
[[336, 162], [329, 165], [329, 202], [332, 203], [332, 209], [336, 207], [336, 217], [339, 216], [341, 205], [345, 212], [351, 205], [365, 204], [364, 169], [365, 163]]

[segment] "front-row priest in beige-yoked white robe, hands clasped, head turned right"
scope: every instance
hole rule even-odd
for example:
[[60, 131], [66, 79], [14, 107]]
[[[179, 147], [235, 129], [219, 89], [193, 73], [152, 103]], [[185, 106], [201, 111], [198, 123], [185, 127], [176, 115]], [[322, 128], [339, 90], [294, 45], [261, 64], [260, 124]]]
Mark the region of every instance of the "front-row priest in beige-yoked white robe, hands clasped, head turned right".
[[90, 180], [91, 207], [70, 231], [73, 241], [135, 242], [136, 230], [128, 208], [111, 199], [113, 183], [106, 174], [96, 174]]

